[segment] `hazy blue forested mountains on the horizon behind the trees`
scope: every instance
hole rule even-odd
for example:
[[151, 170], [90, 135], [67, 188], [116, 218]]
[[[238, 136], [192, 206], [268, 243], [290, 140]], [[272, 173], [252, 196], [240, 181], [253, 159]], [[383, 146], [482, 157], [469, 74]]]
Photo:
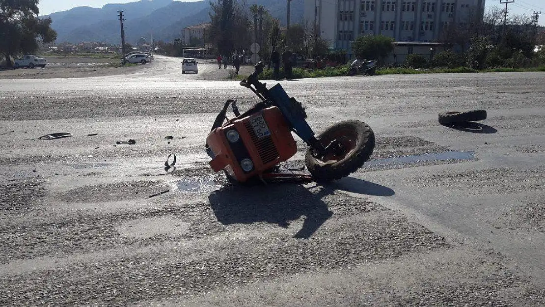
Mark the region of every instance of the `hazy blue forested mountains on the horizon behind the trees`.
[[[272, 17], [286, 24], [286, 0], [249, 0], [263, 5]], [[299, 22], [303, 16], [303, 0], [291, 3], [291, 21]], [[40, 17], [51, 17], [51, 27], [57, 32], [57, 43], [96, 41], [120, 43], [120, 25], [117, 11], [123, 11], [125, 41], [135, 44], [138, 39], [166, 42], [180, 38], [181, 29], [210, 21], [210, 2], [181, 2], [173, 0], [141, 0], [124, 4], [106, 4], [102, 8], [77, 7]]]

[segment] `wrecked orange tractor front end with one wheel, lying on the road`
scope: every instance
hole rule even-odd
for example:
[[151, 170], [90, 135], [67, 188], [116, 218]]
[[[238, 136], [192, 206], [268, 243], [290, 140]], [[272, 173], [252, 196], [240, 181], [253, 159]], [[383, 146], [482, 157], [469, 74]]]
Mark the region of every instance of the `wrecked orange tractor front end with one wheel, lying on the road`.
[[[237, 182], [252, 178], [267, 182], [286, 176], [278, 171], [278, 164], [297, 152], [292, 132], [308, 145], [305, 164], [313, 180], [346, 177], [370, 158], [375, 138], [369, 125], [343, 121], [316, 136], [305, 121], [307, 115], [301, 103], [290, 98], [280, 83], [267, 88], [266, 83], [259, 82], [262, 71], [260, 62], [254, 73], [240, 82], [262, 101], [241, 114], [237, 101], [229, 99], [216, 117], [207, 137], [212, 158], [209, 164], [215, 172], [224, 170], [228, 178]], [[226, 121], [229, 106], [235, 117]], [[301, 178], [292, 173], [294, 178]]]

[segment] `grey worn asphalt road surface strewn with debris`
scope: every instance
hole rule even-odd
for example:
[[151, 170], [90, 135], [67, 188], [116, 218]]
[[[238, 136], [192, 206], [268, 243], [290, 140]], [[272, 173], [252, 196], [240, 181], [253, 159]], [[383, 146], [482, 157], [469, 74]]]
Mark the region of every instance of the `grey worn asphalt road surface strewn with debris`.
[[[370, 124], [374, 154], [331, 184], [244, 188], [203, 144], [226, 99], [256, 98], [174, 61], [0, 80], [0, 306], [544, 304], [545, 74], [281, 81], [317, 132]], [[471, 109], [488, 119], [437, 123]]]

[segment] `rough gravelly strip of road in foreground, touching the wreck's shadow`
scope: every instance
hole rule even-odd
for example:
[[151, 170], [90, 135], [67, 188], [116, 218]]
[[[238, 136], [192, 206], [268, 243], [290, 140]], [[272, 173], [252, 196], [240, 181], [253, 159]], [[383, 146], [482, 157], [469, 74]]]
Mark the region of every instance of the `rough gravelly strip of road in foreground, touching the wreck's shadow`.
[[[0, 278], [5, 290], [0, 293], [0, 303], [16, 299], [19, 305], [125, 305], [150, 297], [168, 298], [304, 272], [350, 268], [449, 246], [443, 238], [396, 214], [385, 210], [370, 213], [376, 207], [358, 200], [339, 204], [332, 208], [332, 221], [309, 239], [282, 232], [209, 238], [210, 245], [204, 250], [196, 246], [162, 255], [4, 276]], [[259, 227], [252, 224], [252, 228]], [[229, 233], [236, 234], [235, 230], [231, 228]]]

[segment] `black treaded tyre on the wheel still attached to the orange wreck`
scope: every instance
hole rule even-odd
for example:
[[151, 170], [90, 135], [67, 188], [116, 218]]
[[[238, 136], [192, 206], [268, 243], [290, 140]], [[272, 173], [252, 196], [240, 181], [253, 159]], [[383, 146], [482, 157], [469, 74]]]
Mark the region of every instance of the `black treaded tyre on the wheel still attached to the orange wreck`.
[[[312, 147], [308, 149], [305, 156], [305, 164], [316, 181], [327, 182], [346, 177], [357, 171], [373, 154], [375, 145], [374, 133], [371, 127], [364, 122], [344, 121], [334, 124], [321, 133], [318, 136], [318, 140], [328, 142], [329, 144], [329, 140], [334, 138], [332, 136], [343, 130], [353, 131], [356, 140], [353, 148], [342, 159], [335, 162], [324, 162], [312, 155]], [[324, 146], [328, 144], [322, 143]]]

